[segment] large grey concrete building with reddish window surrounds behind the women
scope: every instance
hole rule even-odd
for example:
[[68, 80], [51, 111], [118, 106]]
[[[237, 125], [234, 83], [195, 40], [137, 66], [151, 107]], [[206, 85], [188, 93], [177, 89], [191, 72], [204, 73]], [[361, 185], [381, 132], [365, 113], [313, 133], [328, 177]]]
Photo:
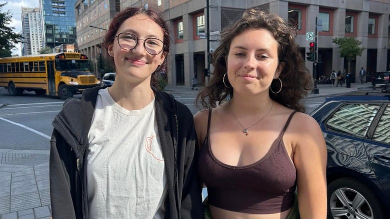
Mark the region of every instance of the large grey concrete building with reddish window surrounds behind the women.
[[[96, 5], [99, 2], [110, 2], [98, 0], [90, 3], [91, 1], [93, 2], [77, 2], [86, 2], [88, 7], [93, 3]], [[361, 56], [357, 56], [356, 60], [350, 63], [352, 82], [358, 78], [357, 71], [361, 67], [367, 72], [390, 70], [390, 0], [120, 0], [119, 5], [120, 9], [147, 5], [156, 7], [163, 13], [170, 26], [170, 56], [167, 59], [168, 83], [172, 85], [189, 86], [193, 74], [197, 75], [200, 84], [207, 83], [208, 77], [205, 77], [203, 72], [208, 69], [212, 73], [209, 54], [218, 46], [220, 31], [250, 7], [275, 12], [296, 26], [296, 41], [303, 57], [309, 52], [309, 42], [313, 41], [307, 38], [307, 33], [316, 35], [317, 78], [330, 75], [332, 70], [347, 73], [347, 60], [340, 57], [338, 45], [332, 42], [336, 37], [354, 37], [361, 41], [360, 46], [365, 48]], [[81, 28], [81, 32], [77, 32], [77, 38], [81, 37], [84, 44], [89, 43], [83, 47], [86, 51], [96, 50], [93, 45], [98, 42], [93, 42], [101, 40], [102, 36], [95, 34], [92, 37], [92, 29], [84, 27], [93, 25], [107, 29], [108, 24], [101, 20], [88, 20], [85, 14], [81, 15], [77, 18], [77, 28]], [[109, 14], [110, 17], [112, 15]], [[81, 45], [80, 40], [78, 43]], [[312, 72], [313, 62], [306, 60], [306, 67]]]

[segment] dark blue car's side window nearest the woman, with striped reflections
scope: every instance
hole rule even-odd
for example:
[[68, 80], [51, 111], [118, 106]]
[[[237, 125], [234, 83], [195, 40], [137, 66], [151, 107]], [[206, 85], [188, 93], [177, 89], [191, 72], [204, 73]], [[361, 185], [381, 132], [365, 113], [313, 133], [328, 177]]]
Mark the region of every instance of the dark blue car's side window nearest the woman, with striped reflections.
[[380, 104], [345, 104], [326, 121], [328, 129], [364, 137]]

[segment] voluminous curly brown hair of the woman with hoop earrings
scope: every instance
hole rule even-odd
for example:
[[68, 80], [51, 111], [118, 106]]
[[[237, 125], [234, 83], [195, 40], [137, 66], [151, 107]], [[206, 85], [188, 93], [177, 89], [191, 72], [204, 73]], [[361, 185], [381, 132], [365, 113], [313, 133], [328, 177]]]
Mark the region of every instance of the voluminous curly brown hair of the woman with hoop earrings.
[[263, 28], [271, 32], [278, 42], [278, 61], [284, 63], [284, 68], [279, 75], [282, 82], [281, 90], [277, 94], [270, 91], [271, 89], [273, 91], [280, 89], [279, 80], [272, 80], [269, 90], [270, 98], [290, 109], [304, 112], [304, 106], [300, 100], [311, 89], [312, 79], [305, 67], [299, 45], [295, 42], [296, 29], [288, 26], [283, 18], [277, 14], [256, 8], [245, 10], [239, 20], [221, 31], [220, 44], [212, 54], [213, 76], [210, 82], [199, 91], [196, 97], [196, 106], [200, 109], [216, 107], [216, 104], [223, 101], [228, 95], [232, 97], [233, 88], [227, 88], [223, 84], [223, 75], [227, 72], [225, 58], [229, 53], [233, 38], [254, 28]]

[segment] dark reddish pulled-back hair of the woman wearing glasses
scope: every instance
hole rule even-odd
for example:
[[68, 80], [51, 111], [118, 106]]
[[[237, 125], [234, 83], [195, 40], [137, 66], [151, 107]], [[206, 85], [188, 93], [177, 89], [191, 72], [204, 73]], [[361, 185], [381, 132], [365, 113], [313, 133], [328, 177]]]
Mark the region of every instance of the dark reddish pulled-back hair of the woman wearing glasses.
[[[114, 43], [116, 32], [118, 31], [120, 25], [128, 18], [135, 16], [137, 14], [145, 14], [148, 16], [151, 20], [153, 20], [155, 23], [158, 24], [158, 26], [161, 27], [163, 32], [163, 43], [164, 47], [162, 49], [162, 52], [165, 53], [165, 60], [164, 62], [152, 73], [151, 75], [151, 81], [150, 84], [152, 86], [156, 86], [156, 72], [166, 69], [166, 57], [169, 53], [169, 30], [168, 25], [166, 24], [164, 18], [162, 17], [162, 14], [158, 11], [157, 8], [151, 8], [148, 7], [147, 9], [143, 7], [126, 7], [120, 12], [118, 12], [113, 18], [112, 21], [108, 27], [107, 34], [105, 35], [102, 45], [104, 46], [105, 50], [108, 51], [108, 45]], [[109, 55], [109, 54], [108, 54]], [[115, 67], [114, 60], [111, 58], [111, 64]]]

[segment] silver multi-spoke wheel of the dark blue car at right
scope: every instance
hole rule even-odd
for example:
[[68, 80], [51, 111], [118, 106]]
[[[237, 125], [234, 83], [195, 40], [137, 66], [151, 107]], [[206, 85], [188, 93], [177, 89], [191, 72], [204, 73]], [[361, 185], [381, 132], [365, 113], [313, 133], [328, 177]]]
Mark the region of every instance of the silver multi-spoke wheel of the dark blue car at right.
[[328, 185], [328, 219], [384, 219], [379, 200], [364, 184], [340, 178]]

